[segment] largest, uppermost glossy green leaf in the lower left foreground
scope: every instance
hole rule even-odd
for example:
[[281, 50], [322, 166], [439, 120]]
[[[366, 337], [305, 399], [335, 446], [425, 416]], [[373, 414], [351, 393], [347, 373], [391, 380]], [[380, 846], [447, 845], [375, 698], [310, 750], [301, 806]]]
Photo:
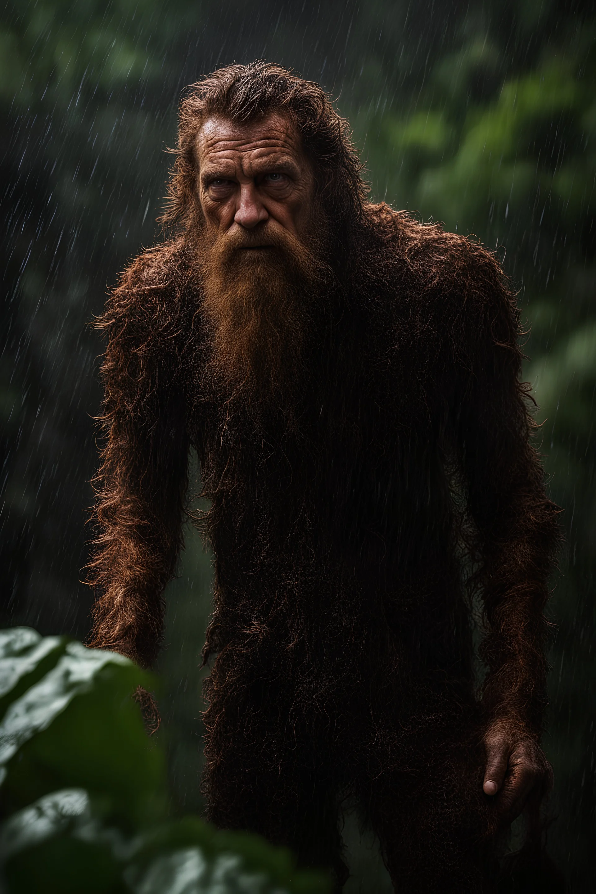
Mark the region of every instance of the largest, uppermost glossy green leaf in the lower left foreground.
[[164, 815], [164, 758], [130, 698], [151, 686], [146, 673], [122, 655], [13, 628], [0, 632], [0, 674], [4, 809], [69, 786], [100, 797], [114, 821]]

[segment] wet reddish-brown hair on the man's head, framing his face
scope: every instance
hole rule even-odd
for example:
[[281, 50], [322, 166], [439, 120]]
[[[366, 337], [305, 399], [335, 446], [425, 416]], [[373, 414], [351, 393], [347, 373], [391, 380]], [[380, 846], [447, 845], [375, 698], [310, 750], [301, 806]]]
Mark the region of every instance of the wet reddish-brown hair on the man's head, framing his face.
[[192, 84], [180, 103], [178, 147], [164, 224], [189, 224], [197, 215], [197, 133], [208, 117], [225, 115], [246, 124], [272, 112], [298, 129], [315, 173], [315, 195], [331, 223], [341, 226], [362, 215], [368, 193], [348, 122], [314, 81], [281, 65], [256, 61], [228, 65]]

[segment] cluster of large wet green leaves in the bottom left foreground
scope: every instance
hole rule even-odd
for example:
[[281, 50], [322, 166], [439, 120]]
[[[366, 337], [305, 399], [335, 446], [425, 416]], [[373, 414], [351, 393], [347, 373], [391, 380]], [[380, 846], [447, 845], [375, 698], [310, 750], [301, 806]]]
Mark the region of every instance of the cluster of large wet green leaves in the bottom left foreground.
[[323, 894], [290, 852], [168, 816], [164, 757], [121, 655], [0, 631], [0, 865], [8, 894]]

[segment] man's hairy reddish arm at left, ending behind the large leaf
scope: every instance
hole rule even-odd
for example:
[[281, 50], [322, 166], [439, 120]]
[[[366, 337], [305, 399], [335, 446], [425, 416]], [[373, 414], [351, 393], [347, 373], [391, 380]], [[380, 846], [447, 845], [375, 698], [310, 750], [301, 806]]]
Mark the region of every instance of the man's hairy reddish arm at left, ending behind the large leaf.
[[162, 594], [180, 550], [188, 462], [168, 337], [170, 296], [153, 282], [150, 262], [140, 257], [123, 274], [99, 321], [109, 338], [102, 366], [105, 444], [89, 565], [97, 592], [90, 645], [146, 667], [163, 634]]

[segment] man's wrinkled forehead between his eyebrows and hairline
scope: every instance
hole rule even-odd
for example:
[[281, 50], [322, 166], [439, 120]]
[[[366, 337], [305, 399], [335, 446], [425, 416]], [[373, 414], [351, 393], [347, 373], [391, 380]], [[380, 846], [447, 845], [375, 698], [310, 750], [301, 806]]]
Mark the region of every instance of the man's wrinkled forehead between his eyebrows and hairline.
[[197, 133], [195, 152], [199, 166], [238, 154], [281, 154], [297, 162], [305, 160], [296, 124], [279, 112], [250, 122], [237, 122], [222, 114], [210, 115]]

